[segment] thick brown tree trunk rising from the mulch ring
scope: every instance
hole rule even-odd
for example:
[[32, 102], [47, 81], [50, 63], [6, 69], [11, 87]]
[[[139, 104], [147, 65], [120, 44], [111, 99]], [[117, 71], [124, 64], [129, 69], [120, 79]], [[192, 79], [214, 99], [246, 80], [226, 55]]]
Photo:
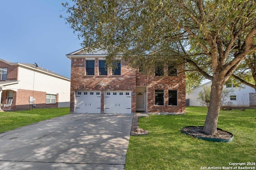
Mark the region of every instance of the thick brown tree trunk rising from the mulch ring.
[[213, 78], [210, 94], [210, 104], [204, 123], [204, 133], [213, 135], [217, 132], [217, 122], [220, 113], [220, 100], [224, 84], [221, 78]]

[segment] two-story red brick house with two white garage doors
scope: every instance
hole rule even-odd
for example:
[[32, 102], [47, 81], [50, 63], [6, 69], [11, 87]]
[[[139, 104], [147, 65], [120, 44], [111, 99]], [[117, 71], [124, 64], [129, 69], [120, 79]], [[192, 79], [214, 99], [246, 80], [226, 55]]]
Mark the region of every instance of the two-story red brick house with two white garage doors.
[[167, 74], [167, 66], [150, 76], [122, 58], [112, 70], [104, 51], [80, 49], [66, 57], [71, 59], [70, 113], [185, 113], [184, 72]]

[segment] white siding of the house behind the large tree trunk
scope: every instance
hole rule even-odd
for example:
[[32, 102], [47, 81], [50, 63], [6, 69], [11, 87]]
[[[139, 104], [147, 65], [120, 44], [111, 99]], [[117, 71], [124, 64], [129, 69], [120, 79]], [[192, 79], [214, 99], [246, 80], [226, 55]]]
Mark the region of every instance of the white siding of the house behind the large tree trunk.
[[[197, 101], [198, 94], [203, 90], [203, 86], [211, 86], [212, 82], [208, 82], [204, 85], [198, 86], [192, 89], [192, 94], [186, 94], [186, 99], [189, 99], [190, 106], [202, 106], [199, 101]], [[232, 102], [232, 106], [250, 106], [249, 93], [255, 93], [254, 88], [250, 86], [242, 85], [244, 88], [233, 88], [233, 95], [236, 96], [236, 100], [226, 100], [225, 102]], [[224, 86], [226, 88], [226, 86]]]

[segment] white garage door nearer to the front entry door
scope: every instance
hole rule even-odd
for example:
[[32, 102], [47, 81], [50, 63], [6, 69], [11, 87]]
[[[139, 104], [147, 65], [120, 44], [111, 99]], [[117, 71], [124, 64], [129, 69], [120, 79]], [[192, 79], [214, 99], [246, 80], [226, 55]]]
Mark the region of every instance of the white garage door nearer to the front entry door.
[[105, 92], [105, 113], [131, 113], [131, 91]]

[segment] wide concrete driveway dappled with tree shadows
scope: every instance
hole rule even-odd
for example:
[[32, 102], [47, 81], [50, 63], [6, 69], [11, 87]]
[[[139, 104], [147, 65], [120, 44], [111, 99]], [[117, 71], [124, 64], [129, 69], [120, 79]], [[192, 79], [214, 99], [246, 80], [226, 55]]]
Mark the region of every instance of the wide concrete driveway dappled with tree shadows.
[[0, 133], [0, 169], [124, 169], [131, 125], [131, 114], [69, 114]]

